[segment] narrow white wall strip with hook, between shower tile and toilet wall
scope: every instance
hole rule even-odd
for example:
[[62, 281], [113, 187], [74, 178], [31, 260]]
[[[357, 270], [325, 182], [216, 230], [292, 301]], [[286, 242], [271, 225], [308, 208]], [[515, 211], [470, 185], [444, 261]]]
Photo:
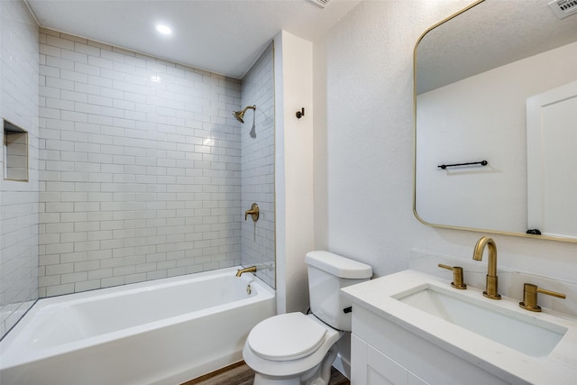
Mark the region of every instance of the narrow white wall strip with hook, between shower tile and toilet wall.
[[[306, 311], [305, 254], [313, 250], [313, 45], [288, 32], [275, 43], [277, 309]], [[305, 116], [296, 113], [305, 107]]]

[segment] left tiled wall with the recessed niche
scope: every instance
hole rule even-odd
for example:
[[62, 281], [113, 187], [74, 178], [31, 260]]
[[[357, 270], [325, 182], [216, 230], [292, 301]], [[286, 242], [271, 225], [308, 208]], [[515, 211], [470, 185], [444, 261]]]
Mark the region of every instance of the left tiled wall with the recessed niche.
[[29, 181], [5, 180], [0, 146], [0, 338], [38, 298], [38, 26], [22, 1], [0, 1], [0, 129], [28, 132]]

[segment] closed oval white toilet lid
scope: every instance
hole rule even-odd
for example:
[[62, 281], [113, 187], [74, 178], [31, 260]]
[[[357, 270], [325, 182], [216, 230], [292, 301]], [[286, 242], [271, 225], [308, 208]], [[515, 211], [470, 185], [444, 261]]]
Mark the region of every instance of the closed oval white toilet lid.
[[247, 342], [252, 352], [270, 361], [306, 357], [325, 341], [326, 328], [302, 313], [272, 316], [252, 328]]

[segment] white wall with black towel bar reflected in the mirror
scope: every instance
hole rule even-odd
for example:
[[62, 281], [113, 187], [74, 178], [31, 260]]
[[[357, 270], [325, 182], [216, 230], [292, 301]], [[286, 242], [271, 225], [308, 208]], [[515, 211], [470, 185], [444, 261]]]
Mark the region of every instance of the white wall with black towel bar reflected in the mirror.
[[[577, 67], [575, 52], [577, 42], [418, 96], [417, 213], [423, 220], [515, 233], [533, 228], [527, 225], [527, 97], [577, 79], [572, 71], [551, 70], [552, 63]], [[489, 164], [437, 168], [476, 160]]]

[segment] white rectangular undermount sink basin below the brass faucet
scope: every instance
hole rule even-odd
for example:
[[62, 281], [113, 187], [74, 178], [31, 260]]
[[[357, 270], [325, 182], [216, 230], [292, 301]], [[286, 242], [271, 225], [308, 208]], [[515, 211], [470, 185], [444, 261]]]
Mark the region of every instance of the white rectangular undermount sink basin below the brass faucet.
[[561, 325], [430, 285], [393, 298], [533, 357], [547, 356], [567, 332]]

